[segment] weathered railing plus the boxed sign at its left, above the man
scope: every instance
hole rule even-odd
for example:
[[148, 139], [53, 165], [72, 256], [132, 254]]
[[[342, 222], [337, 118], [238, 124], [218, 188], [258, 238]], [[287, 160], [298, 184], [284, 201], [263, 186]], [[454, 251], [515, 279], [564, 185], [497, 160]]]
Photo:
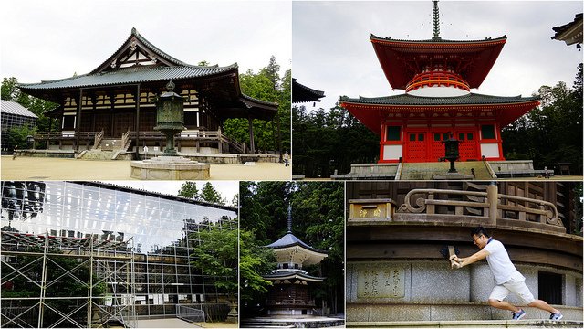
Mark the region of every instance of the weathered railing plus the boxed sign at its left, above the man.
[[486, 191], [412, 189], [400, 207], [386, 198], [349, 200], [348, 222], [349, 225], [428, 222], [433, 225], [513, 226], [566, 232], [554, 204], [498, 194], [495, 185], [487, 186]]

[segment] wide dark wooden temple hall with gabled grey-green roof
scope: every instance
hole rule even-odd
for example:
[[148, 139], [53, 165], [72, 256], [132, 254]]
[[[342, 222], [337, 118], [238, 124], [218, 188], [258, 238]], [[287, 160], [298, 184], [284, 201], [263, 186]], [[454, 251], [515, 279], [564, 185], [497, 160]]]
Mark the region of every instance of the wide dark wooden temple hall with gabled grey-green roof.
[[[185, 130], [176, 147], [183, 154], [255, 153], [253, 120], [273, 120], [277, 104], [242, 93], [237, 64], [196, 66], [172, 58], [132, 28], [130, 37], [88, 74], [61, 80], [20, 84], [29, 95], [56, 102], [46, 113], [60, 132], [36, 133], [47, 149], [161, 150], [165, 139], [153, 129], [155, 101], [172, 80], [184, 99]], [[225, 119], [249, 121], [250, 143], [237, 143], [222, 133]]]

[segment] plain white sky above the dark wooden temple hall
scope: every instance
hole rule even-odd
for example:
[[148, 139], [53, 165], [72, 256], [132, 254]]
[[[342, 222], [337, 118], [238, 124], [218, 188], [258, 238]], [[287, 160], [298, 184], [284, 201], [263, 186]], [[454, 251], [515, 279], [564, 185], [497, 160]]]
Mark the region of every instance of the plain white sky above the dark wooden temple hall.
[[258, 1], [11, 1], [0, 19], [3, 77], [21, 82], [84, 74], [110, 57], [136, 27], [189, 64], [290, 69], [291, 5]]

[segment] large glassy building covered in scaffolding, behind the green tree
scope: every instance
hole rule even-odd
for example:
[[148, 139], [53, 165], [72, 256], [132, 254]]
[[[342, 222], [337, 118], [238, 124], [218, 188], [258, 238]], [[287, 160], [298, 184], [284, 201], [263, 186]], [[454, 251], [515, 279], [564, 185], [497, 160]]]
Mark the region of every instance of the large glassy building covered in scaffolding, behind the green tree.
[[236, 229], [236, 217], [129, 187], [4, 181], [2, 327], [132, 326], [182, 307], [224, 317], [227, 298], [192, 252], [198, 232]]

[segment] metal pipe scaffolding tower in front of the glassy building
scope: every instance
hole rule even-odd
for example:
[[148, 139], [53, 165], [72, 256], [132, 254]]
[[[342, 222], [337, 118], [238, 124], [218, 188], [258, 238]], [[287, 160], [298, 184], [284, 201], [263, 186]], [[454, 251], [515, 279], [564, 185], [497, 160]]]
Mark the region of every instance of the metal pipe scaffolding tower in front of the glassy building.
[[[74, 260], [65, 268], [59, 260]], [[100, 328], [111, 322], [136, 327], [133, 240], [68, 238], [2, 231], [2, 327]], [[52, 273], [48, 273], [50, 269]], [[24, 281], [23, 281], [24, 280]], [[27, 293], [10, 294], [16, 281]], [[49, 289], [74, 282], [85, 295], [62, 296]], [[103, 290], [99, 294], [94, 291]], [[67, 287], [67, 285], [65, 285]], [[101, 287], [98, 289], [97, 287]], [[80, 294], [80, 293], [78, 293]]]

